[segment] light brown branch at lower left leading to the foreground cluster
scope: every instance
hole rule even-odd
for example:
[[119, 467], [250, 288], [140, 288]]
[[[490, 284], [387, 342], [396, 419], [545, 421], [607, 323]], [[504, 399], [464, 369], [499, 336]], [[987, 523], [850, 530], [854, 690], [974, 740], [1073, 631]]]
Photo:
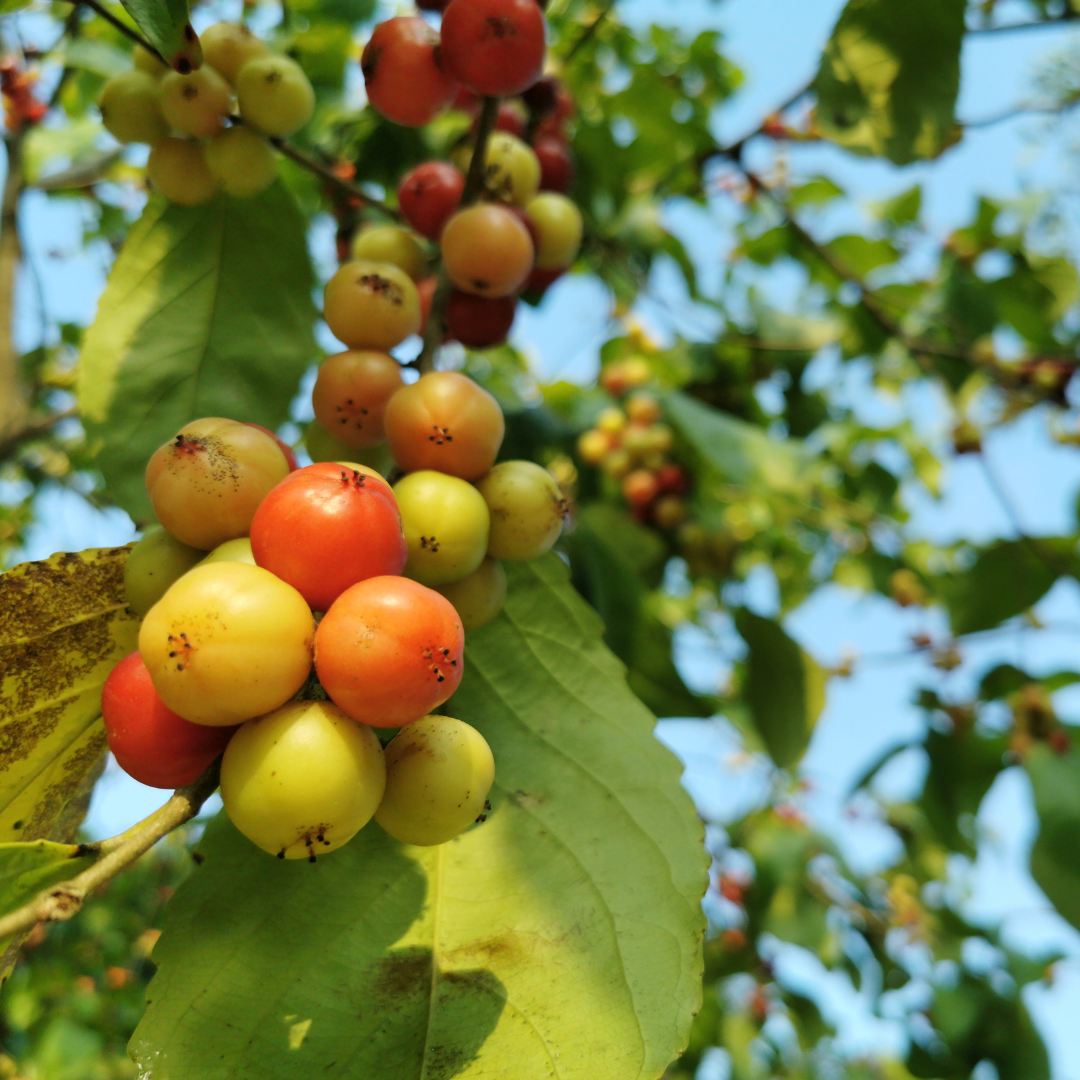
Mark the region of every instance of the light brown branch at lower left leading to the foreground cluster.
[[30, 930], [39, 922], [63, 922], [70, 919], [95, 889], [111, 881], [121, 870], [146, 854], [163, 836], [194, 818], [217, 788], [219, 770], [220, 759], [194, 783], [178, 788], [160, 810], [126, 833], [98, 845], [87, 845], [86, 853], [97, 852], [97, 862], [70, 881], [45, 889], [33, 900], [0, 918], [0, 940]]

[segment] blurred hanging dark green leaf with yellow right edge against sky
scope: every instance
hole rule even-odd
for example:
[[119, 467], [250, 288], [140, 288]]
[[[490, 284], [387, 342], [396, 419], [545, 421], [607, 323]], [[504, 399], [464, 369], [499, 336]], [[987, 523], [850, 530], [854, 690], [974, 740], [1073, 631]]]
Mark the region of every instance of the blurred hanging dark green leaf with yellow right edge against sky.
[[741, 608], [735, 629], [750, 648], [744, 696], [769, 756], [797, 765], [825, 707], [826, 676], [772, 619]]

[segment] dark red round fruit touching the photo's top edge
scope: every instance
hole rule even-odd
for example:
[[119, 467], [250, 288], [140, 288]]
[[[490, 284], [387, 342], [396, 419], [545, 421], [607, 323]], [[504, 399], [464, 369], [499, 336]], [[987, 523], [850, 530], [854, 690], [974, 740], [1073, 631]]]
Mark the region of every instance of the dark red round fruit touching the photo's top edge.
[[447, 70], [475, 94], [519, 94], [543, 70], [544, 19], [537, 0], [451, 0], [442, 37]]

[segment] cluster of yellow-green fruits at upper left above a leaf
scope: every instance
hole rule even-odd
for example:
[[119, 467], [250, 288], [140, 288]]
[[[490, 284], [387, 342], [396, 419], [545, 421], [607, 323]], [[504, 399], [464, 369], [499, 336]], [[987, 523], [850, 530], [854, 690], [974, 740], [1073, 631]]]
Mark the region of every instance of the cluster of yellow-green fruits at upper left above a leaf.
[[[136, 48], [134, 69], [109, 79], [98, 102], [113, 137], [150, 144], [150, 183], [184, 206], [218, 191], [241, 199], [265, 191], [278, 163], [264, 136], [293, 135], [315, 106], [299, 65], [271, 55], [245, 27], [218, 23], [200, 40], [205, 63], [187, 73]], [[233, 96], [242, 123], [233, 122]]]

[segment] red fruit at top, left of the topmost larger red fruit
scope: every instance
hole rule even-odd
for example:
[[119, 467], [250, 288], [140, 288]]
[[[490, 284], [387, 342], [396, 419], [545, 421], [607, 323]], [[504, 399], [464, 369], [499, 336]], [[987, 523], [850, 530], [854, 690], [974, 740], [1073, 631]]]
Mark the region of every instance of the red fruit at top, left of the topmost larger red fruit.
[[372, 107], [406, 127], [429, 123], [458, 93], [457, 81], [443, 67], [438, 33], [416, 15], [380, 23], [360, 68]]

